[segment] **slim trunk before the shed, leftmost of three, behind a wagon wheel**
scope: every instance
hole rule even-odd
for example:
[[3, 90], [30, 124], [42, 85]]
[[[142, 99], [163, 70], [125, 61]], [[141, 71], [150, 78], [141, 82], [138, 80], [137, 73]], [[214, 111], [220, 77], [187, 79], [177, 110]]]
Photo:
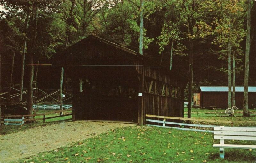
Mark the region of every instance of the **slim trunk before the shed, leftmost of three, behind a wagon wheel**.
[[[231, 14], [230, 14], [230, 25], [229, 25], [230, 30], [232, 30], [232, 25], [231, 25]], [[231, 75], [231, 41], [230, 41], [230, 36], [228, 36], [228, 108], [232, 107], [232, 92], [231, 92], [231, 87], [232, 87], [232, 75]]]

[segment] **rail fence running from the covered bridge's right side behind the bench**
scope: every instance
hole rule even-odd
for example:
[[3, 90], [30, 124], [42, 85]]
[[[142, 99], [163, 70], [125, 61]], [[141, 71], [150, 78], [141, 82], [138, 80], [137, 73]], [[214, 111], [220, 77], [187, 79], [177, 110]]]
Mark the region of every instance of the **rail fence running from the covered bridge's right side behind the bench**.
[[249, 123], [249, 124], [255, 124], [255, 121], [226, 121], [226, 120], [213, 120], [213, 119], [198, 119], [198, 118], [182, 118], [182, 117], [167, 117], [167, 116], [156, 116], [156, 115], [150, 115], [146, 114], [146, 117], [152, 117], [152, 118], [161, 118], [163, 120], [154, 120], [146, 118], [146, 122], [155, 122], [155, 123], [162, 123], [163, 125], [155, 125], [155, 124], [146, 124], [147, 126], [156, 126], [156, 127], [166, 127], [166, 128], [175, 128], [179, 130], [188, 130], [188, 131], [199, 131], [199, 132], [214, 132], [213, 130], [202, 130], [202, 129], [194, 129], [194, 128], [180, 128], [180, 127], [172, 127], [172, 126], [166, 126], [165, 124], [174, 124], [174, 125], [181, 125], [181, 126], [193, 126], [193, 127], [205, 127], [205, 128], [214, 128], [219, 127], [217, 125], [204, 125], [204, 124], [187, 124], [187, 123], [178, 123], [178, 122], [169, 122], [166, 121], [166, 119], [172, 119], [172, 120], [187, 120], [187, 121], [196, 121], [196, 122], [215, 122], [215, 123], [226, 123], [231, 124], [233, 126], [234, 123]]

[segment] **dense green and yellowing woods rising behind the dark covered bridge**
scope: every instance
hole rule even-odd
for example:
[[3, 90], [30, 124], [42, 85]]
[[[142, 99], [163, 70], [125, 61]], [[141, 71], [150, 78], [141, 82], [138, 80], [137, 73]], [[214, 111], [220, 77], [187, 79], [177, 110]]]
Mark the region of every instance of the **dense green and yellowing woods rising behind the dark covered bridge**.
[[229, 86], [231, 106], [232, 83], [256, 85], [256, 50], [250, 49], [256, 44], [255, 1], [1, 0], [0, 5], [1, 90], [13, 83], [27, 88], [31, 111], [33, 82], [59, 89], [68, 81], [61, 69], [39, 66], [36, 73], [33, 65], [51, 64], [89, 34], [140, 54], [143, 46], [144, 56], [188, 79], [190, 102], [199, 86]]

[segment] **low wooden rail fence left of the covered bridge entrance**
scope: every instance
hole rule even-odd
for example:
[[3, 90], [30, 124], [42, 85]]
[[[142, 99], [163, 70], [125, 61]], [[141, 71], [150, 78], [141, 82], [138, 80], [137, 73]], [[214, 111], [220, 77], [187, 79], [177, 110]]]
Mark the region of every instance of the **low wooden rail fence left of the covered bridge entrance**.
[[[64, 115], [60, 115], [60, 116], [53, 116], [53, 117], [46, 117], [46, 115], [49, 114], [54, 114], [54, 113], [60, 113], [60, 112], [66, 112], [66, 111], [71, 111], [72, 108], [67, 109], [67, 110], [57, 110], [57, 111], [52, 111], [52, 112], [48, 112], [48, 113], [39, 113], [39, 114], [27, 114], [27, 115], [5, 115], [5, 116], [1, 116], [1, 118], [4, 119], [4, 121], [6, 121], [5, 118], [15, 118], [15, 117], [33, 117], [33, 119], [24, 119], [24, 122], [26, 121], [39, 121], [39, 120], [43, 120], [43, 123], [45, 123], [46, 119], [52, 119], [52, 118], [58, 118], [58, 117], [65, 117], [65, 116], [70, 116], [72, 115], [72, 113], [70, 114], [64, 114]], [[43, 116], [43, 118], [34, 118], [35, 116]], [[57, 121], [51, 121], [51, 122], [62, 122], [62, 121], [69, 121], [72, 120], [72, 118], [69, 119], [63, 119], [63, 120], [57, 120]]]

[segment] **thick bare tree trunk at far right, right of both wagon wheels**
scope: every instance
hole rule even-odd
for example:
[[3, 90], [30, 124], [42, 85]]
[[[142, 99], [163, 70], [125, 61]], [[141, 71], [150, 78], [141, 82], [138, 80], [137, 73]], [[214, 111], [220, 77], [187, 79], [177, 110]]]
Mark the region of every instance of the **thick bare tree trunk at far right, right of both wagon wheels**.
[[250, 34], [251, 34], [251, 1], [247, 1], [247, 33], [244, 65], [244, 108], [243, 117], [249, 117], [248, 108], [248, 79], [249, 79], [249, 53], [250, 53]]

